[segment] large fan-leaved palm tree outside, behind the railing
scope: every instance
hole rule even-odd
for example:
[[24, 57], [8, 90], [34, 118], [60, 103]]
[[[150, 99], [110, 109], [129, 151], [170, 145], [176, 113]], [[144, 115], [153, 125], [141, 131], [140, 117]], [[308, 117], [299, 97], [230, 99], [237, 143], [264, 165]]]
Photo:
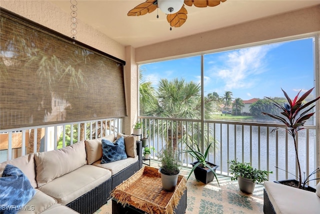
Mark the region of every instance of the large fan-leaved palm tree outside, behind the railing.
[[[201, 117], [201, 88], [199, 84], [193, 81], [185, 82], [183, 79], [161, 79], [158, 89], [155, 91], [154, 99], [143, 103], [145, 115], [165, 118], [185, 118], [200, 119]], [[211, 118], [211, 112], [215, 109], [215, 102], [204, 97], [204, 106], [206, 109], [205, 117]], [[150, 127], [158, 131], [158, 135], [163, 137], [167, 145], [173, 148], [178, 143], [188, 142], [201, 144], [202, 129], [198, 123], [184, 121], [166, 121], [159, 123], [158, 120], [151, 121]], [[194, 133], [193, 135], [191, 135]], [[210, 130], [204, 127], [204, 143], [215, 142]], [[150, 130], [153, 133], [153, 130]], [[209, 136], [209, 137], [207, 137]], [[199, 141], [200, 140], [200, 141]]]

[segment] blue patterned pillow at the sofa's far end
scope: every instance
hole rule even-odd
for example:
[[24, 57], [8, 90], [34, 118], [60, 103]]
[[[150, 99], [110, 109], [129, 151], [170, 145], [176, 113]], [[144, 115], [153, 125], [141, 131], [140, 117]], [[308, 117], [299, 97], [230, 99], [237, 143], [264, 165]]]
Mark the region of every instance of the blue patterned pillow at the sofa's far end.
[[120, 137], [113, 143], [102, 139], [102, 159], [101, 163], [109, 163], [127, 158], [125, 153], [124, 138]]

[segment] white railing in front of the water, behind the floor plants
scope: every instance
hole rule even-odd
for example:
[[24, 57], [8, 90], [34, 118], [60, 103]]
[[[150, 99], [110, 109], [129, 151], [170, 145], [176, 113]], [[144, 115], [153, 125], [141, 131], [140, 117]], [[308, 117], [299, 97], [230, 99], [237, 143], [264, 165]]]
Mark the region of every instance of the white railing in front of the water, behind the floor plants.
[[[185, 142], [188, 144], [201, 142], [200, 120], [144, 116], [139, 118], [143, 122], [143, 135], [148, 135], [149, 146], [155, 148], [156, 152], [151, 154], [154, 159], [157, 159], [157, 152], [166, 143], [175, 144], [183, 150]], [[204, 121], [203, 137], [209, 139], [204, 140], [204, 147], [206, 148], [208, 143], [214, 140], [218, 142], [214, 144], [214, 149], [209, 153], [207, 160], [219, 165], [217, 173], [222, 175], [230, 176], [228, 161], [237, 159], [249, 162], [255, 168], [273, 171], [268, 176], [269, 180], [294, 178], [294, 175], [297, 176], [297, 166], [292, 137], [282, 129], [271, 132], [274, 127], [280, 126], [267, 123]], [[306, 175], [317, 167], [315, 130], [315, 126], [305, 125], [305, 129], [299, 131], [297, 136], [300, 167]], [[190, 166], [189, 163], [195, 161], [185, 153], [181, 153], [181, 160], [185, 166]], [[315, 185], [315, 182], [309, 185]]]

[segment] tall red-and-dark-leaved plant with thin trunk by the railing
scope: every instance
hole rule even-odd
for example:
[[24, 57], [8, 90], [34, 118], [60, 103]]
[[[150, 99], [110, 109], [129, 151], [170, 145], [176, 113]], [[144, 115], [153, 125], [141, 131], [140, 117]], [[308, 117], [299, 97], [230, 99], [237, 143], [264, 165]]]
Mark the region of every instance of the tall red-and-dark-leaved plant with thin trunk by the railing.
[[[281, 116], [275, 115], [275, 114], [270, 114], [267, 112], [261, 112], [264, 115], [267, 115], [269, 117], [272, 117], [280, 123], [285, 125], [285, 131], [292, 136], [293, 139], [293, 144], [294, 144], [294, 149], [295, 149], [295, 160], [296, 160], [296, 165], [298, 168], [298, 183], [297, 187], [298, 188], [304, 188], [302, 184], [302, 177], [301, 177], [301, 167], [300, 167], [300, 162], [299, 162], [299, 157], [298, 157], [298, 151], [297, 151], [297, 142], [296, 142], [296, 135], [299, 130], [304, 129], [303, 125], [307, 119], [313, 116], [314, 112], [310, 112], [313, 107], [315, 106], [311, 104], [315, 103], [320, 97], [317, 97], [309, 102], [304, 102], [305, 98], [312, 92], [313, 88], [305, 92], [300, 98], [298, 97], [301, 90], [298, 92], [298, 94], [294, 97], [293, 100], [291, 100], [287, 93], [281, 89], [286, 100], [288, 103], [285, 103], [284, 106], [280, 105], [276, 101], [274, 101], [271, 98], [266, 97], [270, 102], [275, 105], [277, 108], [281, 110]], [[304, 102], [304, 103], [303, 103]], [[282, 127], [276, 127], [272, 129], [272, 131], [275, 131], [277, 129], [280, 129]], [[271, 131], [271, 132], [272, 132]]]

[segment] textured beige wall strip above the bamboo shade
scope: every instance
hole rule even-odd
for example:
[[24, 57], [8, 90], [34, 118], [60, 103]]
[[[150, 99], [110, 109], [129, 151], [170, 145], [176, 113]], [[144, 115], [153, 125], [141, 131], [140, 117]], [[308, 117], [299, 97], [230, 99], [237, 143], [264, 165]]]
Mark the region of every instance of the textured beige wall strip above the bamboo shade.
[[[50, 28], [66, 36], [70, 34], [70, 14], [62, 12], [48, 1], [2, 1], [0, 6], [33, 22]], [[124, 46], [106, 35], [78, 20], [76, 27], [78, 41], [103, 51], [121, 60], [125, 60]]]

